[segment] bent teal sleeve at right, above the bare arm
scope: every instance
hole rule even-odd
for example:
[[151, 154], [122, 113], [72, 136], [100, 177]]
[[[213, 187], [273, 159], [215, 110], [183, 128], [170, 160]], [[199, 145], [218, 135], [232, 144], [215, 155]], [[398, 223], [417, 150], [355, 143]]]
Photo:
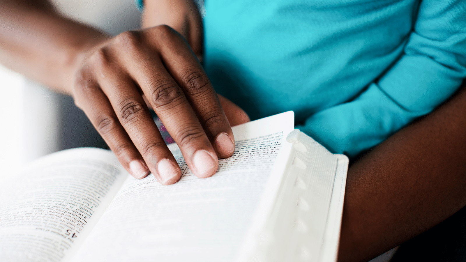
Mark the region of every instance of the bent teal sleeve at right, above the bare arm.
[[404, 54], [348, 103], [296, 128], [330, 151], [355, 156], [450, 97], [466, 77], [466, 1], [423, 0]]

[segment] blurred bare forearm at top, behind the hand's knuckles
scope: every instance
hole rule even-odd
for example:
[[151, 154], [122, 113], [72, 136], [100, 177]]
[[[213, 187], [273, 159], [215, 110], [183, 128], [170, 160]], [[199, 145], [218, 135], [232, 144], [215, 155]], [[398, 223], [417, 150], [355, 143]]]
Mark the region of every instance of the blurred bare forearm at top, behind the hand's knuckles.
[[202, 61], [202, 19], [192, 0], [144, 0], [142, 27], [158, 25], [168, 25], [183, 35]]

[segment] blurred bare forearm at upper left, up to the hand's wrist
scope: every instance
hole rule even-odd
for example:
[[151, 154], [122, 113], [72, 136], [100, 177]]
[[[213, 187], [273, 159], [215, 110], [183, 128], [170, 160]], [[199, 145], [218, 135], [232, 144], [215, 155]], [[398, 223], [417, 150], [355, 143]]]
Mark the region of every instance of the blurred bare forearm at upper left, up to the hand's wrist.
[[0, 24], [0, 63], [66, 94], [86, 52], [109, 38], [45, 0], [1, 1]]

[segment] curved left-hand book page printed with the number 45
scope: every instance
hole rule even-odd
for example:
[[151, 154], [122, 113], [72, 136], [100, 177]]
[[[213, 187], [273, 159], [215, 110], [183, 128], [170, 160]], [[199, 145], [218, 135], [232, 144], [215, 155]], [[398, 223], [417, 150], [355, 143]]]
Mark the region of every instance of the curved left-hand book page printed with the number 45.
[[58, 262], [89, 234], [126, 178], [112, 152], [73, 149], [39, 159], [0, 185], [0, 261]]

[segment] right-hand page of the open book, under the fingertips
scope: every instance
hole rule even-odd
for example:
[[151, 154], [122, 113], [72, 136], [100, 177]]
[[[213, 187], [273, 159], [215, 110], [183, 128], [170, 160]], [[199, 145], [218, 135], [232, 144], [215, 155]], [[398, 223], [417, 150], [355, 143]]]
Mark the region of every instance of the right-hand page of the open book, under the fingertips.
[[153, 176], [128, 178], [75, 261], [232, 261], [293, 119], [287, 112], [233, 127], [233, 156], [206, 179], [195, 177], [170, 145], [180, 181], [162, 186]]

